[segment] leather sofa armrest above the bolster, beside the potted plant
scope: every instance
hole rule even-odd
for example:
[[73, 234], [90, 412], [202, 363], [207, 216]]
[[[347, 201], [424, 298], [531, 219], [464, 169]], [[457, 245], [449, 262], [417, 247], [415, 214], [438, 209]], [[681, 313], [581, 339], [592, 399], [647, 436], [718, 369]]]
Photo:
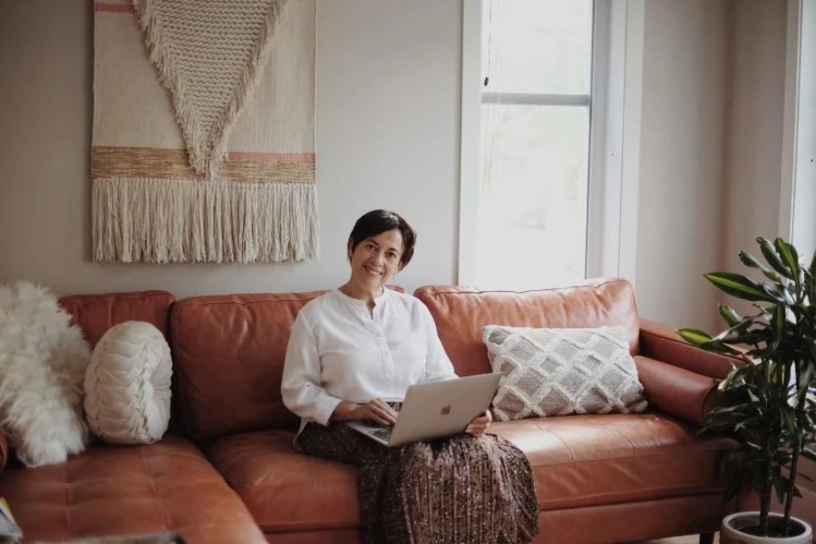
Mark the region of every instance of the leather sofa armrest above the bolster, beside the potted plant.
[[639, 355], [719, 380], [723, 380], [734, 365], [742, 364], [739, 359], [713, 354], [691, 345], [670, 326], [647, 319], [640, 320]]

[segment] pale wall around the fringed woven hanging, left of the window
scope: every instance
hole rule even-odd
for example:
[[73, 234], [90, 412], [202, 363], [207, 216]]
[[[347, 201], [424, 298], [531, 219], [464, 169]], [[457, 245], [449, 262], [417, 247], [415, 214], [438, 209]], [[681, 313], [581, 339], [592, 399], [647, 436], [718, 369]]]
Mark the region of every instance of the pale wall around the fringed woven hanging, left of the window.
[[0, 1], [0, 283], [59, 294], [176, 296], [335, 287], [345, 239], [374, 208], [419, 231], [409, 289], [455, 277], [461, 1], [320, 0], [318, 261], [101, 266], [90, 261], [91, 0]]

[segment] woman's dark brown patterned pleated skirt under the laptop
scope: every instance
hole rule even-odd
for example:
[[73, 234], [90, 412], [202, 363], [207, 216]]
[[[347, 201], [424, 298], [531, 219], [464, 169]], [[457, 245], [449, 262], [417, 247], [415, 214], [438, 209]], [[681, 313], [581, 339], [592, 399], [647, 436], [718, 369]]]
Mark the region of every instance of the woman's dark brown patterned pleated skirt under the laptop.
[[344, 423], [307, 423], [296, 444], [358, 467], [363, 544], [515, 544], [539, 532], [529, 461], [498, 436], [387, 448]]

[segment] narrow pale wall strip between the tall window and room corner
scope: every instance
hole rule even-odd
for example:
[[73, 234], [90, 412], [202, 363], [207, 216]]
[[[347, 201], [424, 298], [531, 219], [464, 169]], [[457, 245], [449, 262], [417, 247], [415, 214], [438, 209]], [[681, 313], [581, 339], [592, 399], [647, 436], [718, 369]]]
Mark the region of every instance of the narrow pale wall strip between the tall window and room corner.
[[636, 297], [670, 325], [716, 316], [727, 25], [727, 0], [646, 1]]

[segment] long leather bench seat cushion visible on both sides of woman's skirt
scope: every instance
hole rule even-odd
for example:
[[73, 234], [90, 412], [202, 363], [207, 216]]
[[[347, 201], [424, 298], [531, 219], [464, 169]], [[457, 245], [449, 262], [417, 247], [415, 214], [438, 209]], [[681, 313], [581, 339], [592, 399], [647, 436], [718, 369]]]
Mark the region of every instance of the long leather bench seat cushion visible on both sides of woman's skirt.
[[[723, 438], [657, 413], [566, 415], [493, 423], [533, 468], [541, 510], [718, 492]], [[267, 533], [355, 528], [353, 467], [296, 452], [293, 432], [245, 432], [205, 449]]]

